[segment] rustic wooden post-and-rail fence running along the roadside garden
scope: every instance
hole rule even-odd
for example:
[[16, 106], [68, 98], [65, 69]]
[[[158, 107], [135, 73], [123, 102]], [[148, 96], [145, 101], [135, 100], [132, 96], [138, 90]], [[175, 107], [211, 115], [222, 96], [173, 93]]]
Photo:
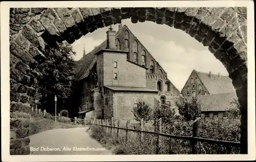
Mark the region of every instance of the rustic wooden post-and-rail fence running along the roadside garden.
[[[176, 139], [181, 139], [181, 140], [187, 140], [191, 143], [192, 146], [192, 154], [197, 154], [196, 148], [198, 145], [198, 142], [206, 142], [206, 143], [210, 143], [210, 144], [217, 144], [217, 145], [225, 145], [227, 146], [227, 150], [228, 153], [230, 153], [230, 147], [241, 147], [241, 143], [239, 142], [230, 142], [230, 141], [220, 141], [220, 140], [212, 140], [212, 139], [208, 139], [208, 138], [201, 138], [201, 137], [197, 137], [198, 135], [198, 125], [200, 123], [200, 118], [198, 118], [197, 120], [194, 121], [193, 123], [193, 135], [191, 136], [182, 136], [182, 135], [173, 135], [173, 134], [166, 134], [166, 133], [162, 133], [161, 132], [161, 120], [159, 120], [157, 123], [157, 129], [155, 129], [155, 131], [146, 131], [143, 129], [137, 130], [137, 129], [131, 129], [128, 128], [128, 124], [130, 121], [126, 122], [126, 127], [119, 127], [119, 124], [115, 124], [117, 122], [113, 122], [113, 119], [110, 121], [110, 123], [108, 123], [109, 121], [106, 120], [107, 122], [103, 122], [103, 120], [92, 120], [91, 124], [92, 125], [98, 125], [101, 127], [105, 127], [106, 131], [108, 132], [108, 130], [110, 129], [111, 134], [113, 135], [113, 129], [117, 129], [117, 136], [118, 136], [118, 132], [119, 130], [125, 130], [125, 141], [127, 141], [127, 134], [128, 131], [133, 131], [133, 132], [138, 132], [140, 135], [143, 133], [149, 133], [149, 134], [154, 134], [157, 136], [157, 143], [156, 143], [156, 154], [159, 154], [160, 152], [160, 146], [161, 146], [161, 136], [163, 137], [169, 137], [169, 138], [176, 138]], [[140, 127], [141, 128], [141, 127]]]

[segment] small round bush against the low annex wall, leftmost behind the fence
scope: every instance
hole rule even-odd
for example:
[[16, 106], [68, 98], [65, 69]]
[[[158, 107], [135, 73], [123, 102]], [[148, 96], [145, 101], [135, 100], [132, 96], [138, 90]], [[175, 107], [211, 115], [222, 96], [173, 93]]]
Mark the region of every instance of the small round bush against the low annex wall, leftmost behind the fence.
[[134, 105], [133, 114], [136, 121], [143, 119], [144, 122], [147, 122], [151, 120], [152, 108], [150, 107], [150, 104], [140, 100]]

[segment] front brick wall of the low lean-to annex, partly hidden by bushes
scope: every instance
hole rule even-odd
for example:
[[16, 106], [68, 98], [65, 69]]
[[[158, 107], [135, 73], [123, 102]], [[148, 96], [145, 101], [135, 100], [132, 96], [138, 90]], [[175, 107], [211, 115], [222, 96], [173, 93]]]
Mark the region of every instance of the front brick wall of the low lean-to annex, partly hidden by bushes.
[[133, 106], [139, 100], [145, 101], [154, 108], [154, 98], [157, 92], [128, 92], [115, 91], [114, 92], [114, 119], [131, 119], [133, 118]]

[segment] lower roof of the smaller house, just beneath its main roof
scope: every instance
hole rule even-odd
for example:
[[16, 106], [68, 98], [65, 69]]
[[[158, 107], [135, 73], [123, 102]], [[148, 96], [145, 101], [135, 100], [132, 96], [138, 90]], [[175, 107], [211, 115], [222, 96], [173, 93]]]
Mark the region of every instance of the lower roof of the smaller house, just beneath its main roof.
[[232, 92], [197, 96], [201, 111], [226, 111], [233, 98], [237, 98], [237, 95]]

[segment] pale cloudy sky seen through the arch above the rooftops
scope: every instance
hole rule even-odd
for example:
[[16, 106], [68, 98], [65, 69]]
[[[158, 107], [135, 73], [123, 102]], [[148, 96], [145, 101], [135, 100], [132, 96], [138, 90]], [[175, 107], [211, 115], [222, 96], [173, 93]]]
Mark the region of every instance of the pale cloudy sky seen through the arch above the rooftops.
[[[152, 21], [137, 22], [133, 24], [131, 19], [121, 21], [126, 25], [148, 52], [159, 62], [167, 73], [167, 77], [180, 91], [186, 83], [189, 75], [195, 69], [199, 72], [228, 76], [224, 65], [210, 53], [208, 47], [184, 31], [170, 28], [166, 25], [158, 25]], [[88, 33], [72, 43], [76, 52], [75, 60], [83, 55], [83, 48], [89, 53], [95, 46], [106, 39], [106, 31], [109, 27], [97, 29]], [[113, 26], [118, 30], [118, 24]]]

